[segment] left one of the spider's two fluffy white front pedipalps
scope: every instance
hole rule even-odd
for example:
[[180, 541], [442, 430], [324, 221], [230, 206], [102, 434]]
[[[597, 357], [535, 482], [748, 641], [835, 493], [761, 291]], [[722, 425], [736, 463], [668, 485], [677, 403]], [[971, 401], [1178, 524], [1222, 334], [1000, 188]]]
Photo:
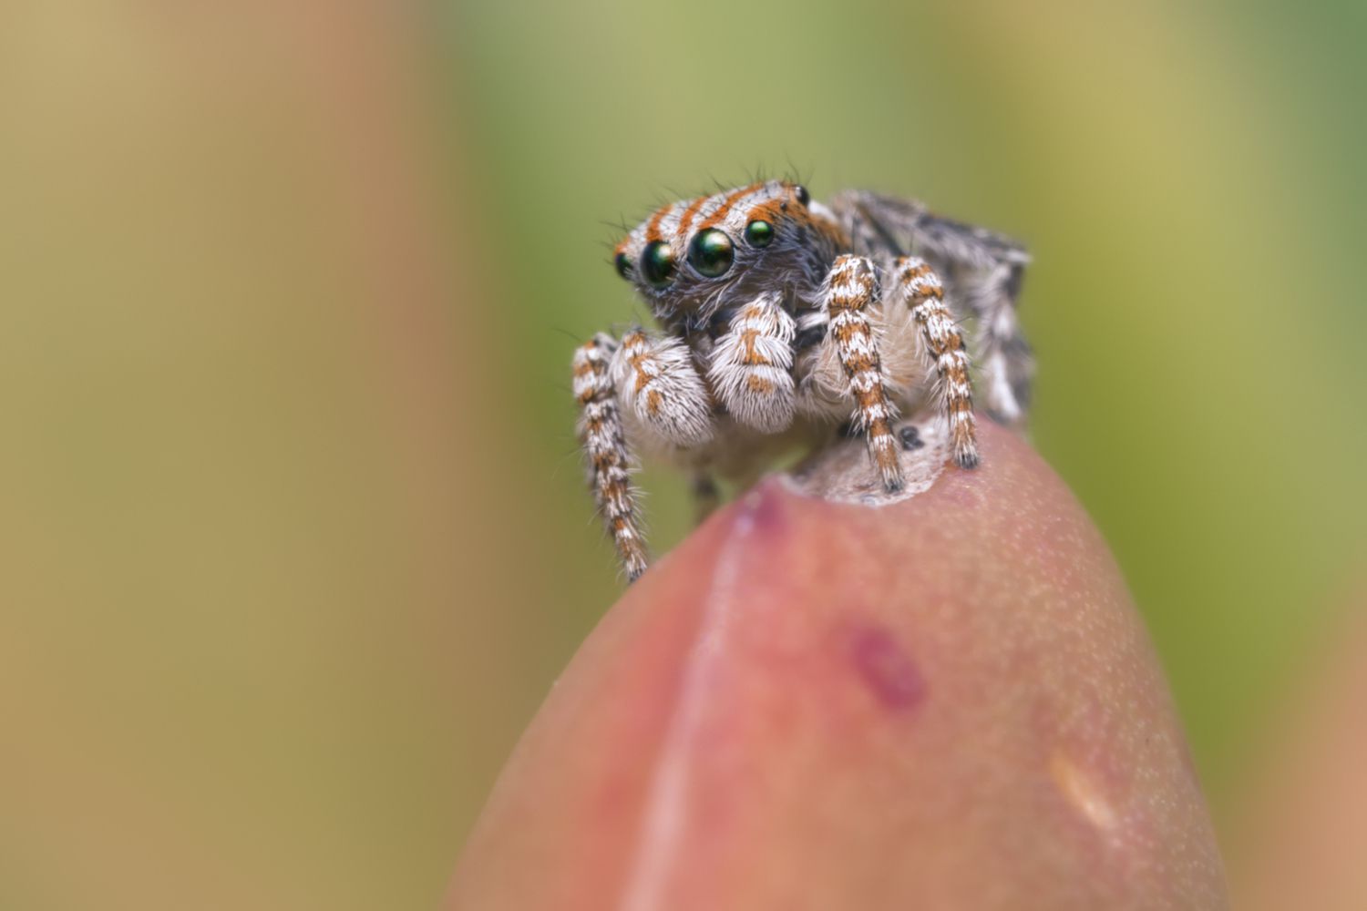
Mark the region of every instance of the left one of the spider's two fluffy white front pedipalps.
[[712, 400], [681, 339], [632, 329], [622, 336], [612, 376], [618, 400], [662, 438], [684, 448], [712, 438]]

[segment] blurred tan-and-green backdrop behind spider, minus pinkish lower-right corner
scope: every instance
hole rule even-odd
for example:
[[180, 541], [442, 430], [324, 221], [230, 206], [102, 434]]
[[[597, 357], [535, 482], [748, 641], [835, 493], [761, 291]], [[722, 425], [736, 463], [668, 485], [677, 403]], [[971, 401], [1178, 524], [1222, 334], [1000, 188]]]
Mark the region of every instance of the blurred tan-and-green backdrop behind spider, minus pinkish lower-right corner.
[[618, 591], [604, 225], [757, 168], [1029, 243], [1228, 828], [1367, 559], [1363, 10], [0, 7], [0, 907], [435, 904]]

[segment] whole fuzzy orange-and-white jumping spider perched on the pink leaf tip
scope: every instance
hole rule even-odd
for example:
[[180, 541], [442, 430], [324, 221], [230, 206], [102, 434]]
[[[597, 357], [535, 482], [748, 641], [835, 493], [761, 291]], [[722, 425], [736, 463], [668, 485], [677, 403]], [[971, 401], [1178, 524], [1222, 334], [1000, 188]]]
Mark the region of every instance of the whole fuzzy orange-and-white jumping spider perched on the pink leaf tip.
[[692, 470], [715, 499], [714, 475], [752, 479], [853, 421], [895, 492], [895, 415], [934, 403], [954, 462], [977, 466], [958, 321], [976, 322], [988, 414], [1018, 422], [1032, 373], [1016, 322], [1028, 262], [1016, 242], [917, 202], [845, 191], [822, 205], [785, 180], [674, 202], [637, 225], [615, 265], [660, 331], [600, 333], [574, 354], [589, 479], [627, 578], [647, 565], [636, 449]]

